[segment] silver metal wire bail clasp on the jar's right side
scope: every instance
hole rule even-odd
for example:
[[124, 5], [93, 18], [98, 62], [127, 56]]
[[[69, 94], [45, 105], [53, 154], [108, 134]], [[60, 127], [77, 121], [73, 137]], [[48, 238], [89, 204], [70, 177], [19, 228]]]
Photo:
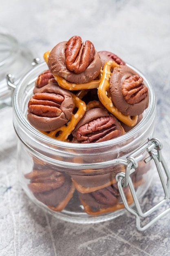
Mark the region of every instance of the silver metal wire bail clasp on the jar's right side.
[[[146, 144], [141, 146], [141, 148], [137, 149], [134, 153], [132, 153], [130, 156], [126, 158], [127, 159], [126, 172], [125, 173], [120, 172], [120, 173], [117, 173], [116, 175], [117, 186], [118, 186], [122, 201], [124, 203], [124, 207], [128, 212], [135, 215], [136, 227], [139, 231], [144, 231], [148, 229], [148, 227], [150, 227], [152, 224], [157, 222], [157, 220], [159, 220], [160, 218], [162, 218], [163, 216], [165, 216], [167, 213], [170, 212], [170, 207], [169, 207], [165, 211], [159, 213], [155, 218], [153, 218], [146, 225], [141, 227], [141, 223], [140, 223], [141, 218], [145, 218], [149, 216], [151, 213], [153, 213], [154, 211], [159, 209], [161, 206], [163, 206], [163, 204], [166, 204], [168, 200], [170, 200], [170, 171], [168, 170], [168, 166], [166, 165], [166, 162], [162, 157], [161, 149], [162, 149], [162, 143], [159, 139], [157, 138], [148, 139], [148, 142]], [[130, 174], [133, 173], [135, 169], [138, 167], [138, 161], [143, 159], [142, 153], [144, 152], [144, 150], [146, 150], [149, 153], [149, 156], [146, 159], [144, 159], [144, 162], [148, 163], [150, 162], [150, 160], [152, 159], [154, 160], [155, 165], [157, 167], [157, 171], [159, 173], [161, 184], [163, 186], [164, 194], [165, 194], [163, 200], [161, 200], [158, 204], [153, 206], [151, 209], [149, 209], [145, 213], [143, 213], [141, 210], [139, 200], [137, 199], [135, 188], [130, 178]], [[163, 171], [167, 177], [167, 181], [164, 177], [165, 175], [163, 174]], [[129, 186], [136, 209], [133, 209], [128, 205], [126, 195], [123, 190], [125, 186]]]

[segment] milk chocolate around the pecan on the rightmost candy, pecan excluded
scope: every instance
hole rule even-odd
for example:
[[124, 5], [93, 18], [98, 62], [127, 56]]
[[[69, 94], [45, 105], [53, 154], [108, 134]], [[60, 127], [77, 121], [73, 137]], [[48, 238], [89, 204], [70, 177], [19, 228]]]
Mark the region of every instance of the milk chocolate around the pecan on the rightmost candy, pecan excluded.
[[145, 99], [139, 103], [135, 103], [133, 105], [127, 103], [121, 91], [122, 84], [124, 79], [127, 79], [132, 75], [137, 75], [137, 73], [126, 65], [115, 67], [110, 77], [110, 93], [115, 107], [120, 112], [122, 112], [124, 115], [135, 116], [140, 115], [146, 108], [148, 108], [149, 93], [147, 97], [145, 97]]

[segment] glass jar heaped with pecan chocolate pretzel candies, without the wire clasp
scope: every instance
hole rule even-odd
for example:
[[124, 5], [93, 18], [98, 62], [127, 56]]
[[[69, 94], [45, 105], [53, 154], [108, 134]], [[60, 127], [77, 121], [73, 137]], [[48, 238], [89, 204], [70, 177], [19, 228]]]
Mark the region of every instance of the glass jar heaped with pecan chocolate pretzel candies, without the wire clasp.
[[[79, 36], [57, 44], [44, 60], [13, 97], [21, 184], [58, 218], [115, 218], [124, 213], [116, 175], [126, 173], [126, 158], [153, 136], [155, 92], [135, 68]], [[142, 152], [130, 173], [139, 197], [152, 177], [147, 156]], [[133, 204], [128, 186], [124, 193]]]

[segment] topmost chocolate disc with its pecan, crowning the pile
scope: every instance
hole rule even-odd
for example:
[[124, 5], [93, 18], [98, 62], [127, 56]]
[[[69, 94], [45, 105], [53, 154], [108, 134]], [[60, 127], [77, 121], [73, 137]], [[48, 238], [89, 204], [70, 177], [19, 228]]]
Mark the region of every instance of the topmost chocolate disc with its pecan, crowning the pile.
[[[102, 67], [94, 45], [90, 41], [82, 43], [80, 36], [73, 36], [68, 41], [58, 43], [50, 52], [44, 54], [44, 60], [56, 79], [60, 76], [75, 84], [95, 80]], [[81, 89], [83, 88], [79, 86], [79, 90]]]

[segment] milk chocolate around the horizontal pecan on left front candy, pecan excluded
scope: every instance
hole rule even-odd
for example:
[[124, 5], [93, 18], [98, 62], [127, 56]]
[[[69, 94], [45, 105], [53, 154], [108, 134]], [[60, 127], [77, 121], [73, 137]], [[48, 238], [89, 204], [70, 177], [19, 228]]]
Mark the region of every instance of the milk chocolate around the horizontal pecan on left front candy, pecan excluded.
[[32, 126], [41, 131], [52, 131], [60, 128], [66, 124], [73, 114], [74, 101], [71, 92], [60, 88], [56, 83], [50, 83], [45, 85], [39, 90], [39, 93], [49, 92], [55, 94], [61, 94], [64, 96], [64, 101], [60, 105], [62, 113], [59, 117], [40, 117], [28, 112], [27, 119]]

